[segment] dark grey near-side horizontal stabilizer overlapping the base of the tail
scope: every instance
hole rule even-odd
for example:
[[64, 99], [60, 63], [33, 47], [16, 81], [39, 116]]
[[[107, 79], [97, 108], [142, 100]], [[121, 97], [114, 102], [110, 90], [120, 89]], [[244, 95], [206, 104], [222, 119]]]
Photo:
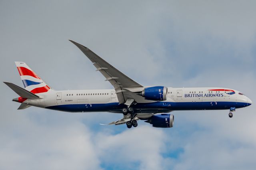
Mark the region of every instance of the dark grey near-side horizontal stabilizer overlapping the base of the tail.
[[38, 95], [35, 95], [31, 93], [30, 91], [27, 91], [26, 89], [23, 89], [13, 83], [4, 82], [8, 87], [10, 87], [15, 93], [17, 93], [20, 97], [26, 98], [26, 99], [42, 99], [42, 97], [39, 97]]

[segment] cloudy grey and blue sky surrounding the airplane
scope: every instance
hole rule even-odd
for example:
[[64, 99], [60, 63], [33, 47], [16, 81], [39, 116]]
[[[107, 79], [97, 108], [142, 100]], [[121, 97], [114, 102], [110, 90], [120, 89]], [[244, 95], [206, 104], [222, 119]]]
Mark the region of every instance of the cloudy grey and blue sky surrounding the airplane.
[[1, 170], [254, 170], [256, 167], [254, 0], [0, 0], [0, 80], [23, 87], [24, 61], [50, 87], [110, 89], [84, 54], [90, 48], [136, 82], [227, 87], [253, 104], [174, 111], [173, 128], [138, 122], [101, 126], [114, 113], [17, 110], [0, 83]]

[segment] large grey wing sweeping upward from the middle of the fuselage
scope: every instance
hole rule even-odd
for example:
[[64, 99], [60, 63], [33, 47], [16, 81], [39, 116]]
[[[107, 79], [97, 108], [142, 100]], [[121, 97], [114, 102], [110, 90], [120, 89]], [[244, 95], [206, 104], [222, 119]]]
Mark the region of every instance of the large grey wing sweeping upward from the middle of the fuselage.
[[92, 61], [93, 65], [97, 69], [96, 71], [100, 71], [100, 73], [102, 73], [102, 75], [106, 78], [105, 81], [109, 81], [114, 86], [119, 103], [125, 103], [126, 100], [129, 99], [124, 94], [124, 92], [126, 92], [125, 88], [143, 87], [136, 81], [124, 75], [87, 47], [84, 47], [83, 45], [72, 40], [70, 40], [70, 42], [74, 43], [88, 57], [88, 59]]

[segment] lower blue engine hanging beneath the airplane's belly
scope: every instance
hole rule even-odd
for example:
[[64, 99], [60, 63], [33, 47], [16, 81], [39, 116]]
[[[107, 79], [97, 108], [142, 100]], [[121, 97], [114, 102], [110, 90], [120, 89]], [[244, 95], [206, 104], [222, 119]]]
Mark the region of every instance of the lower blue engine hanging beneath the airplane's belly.
[[150, 119], [145, 122], [150, 123], [153, 127], [170, 128], [173, 127], [174, 124], [174, 115], [162, 113], [150, 117]]

